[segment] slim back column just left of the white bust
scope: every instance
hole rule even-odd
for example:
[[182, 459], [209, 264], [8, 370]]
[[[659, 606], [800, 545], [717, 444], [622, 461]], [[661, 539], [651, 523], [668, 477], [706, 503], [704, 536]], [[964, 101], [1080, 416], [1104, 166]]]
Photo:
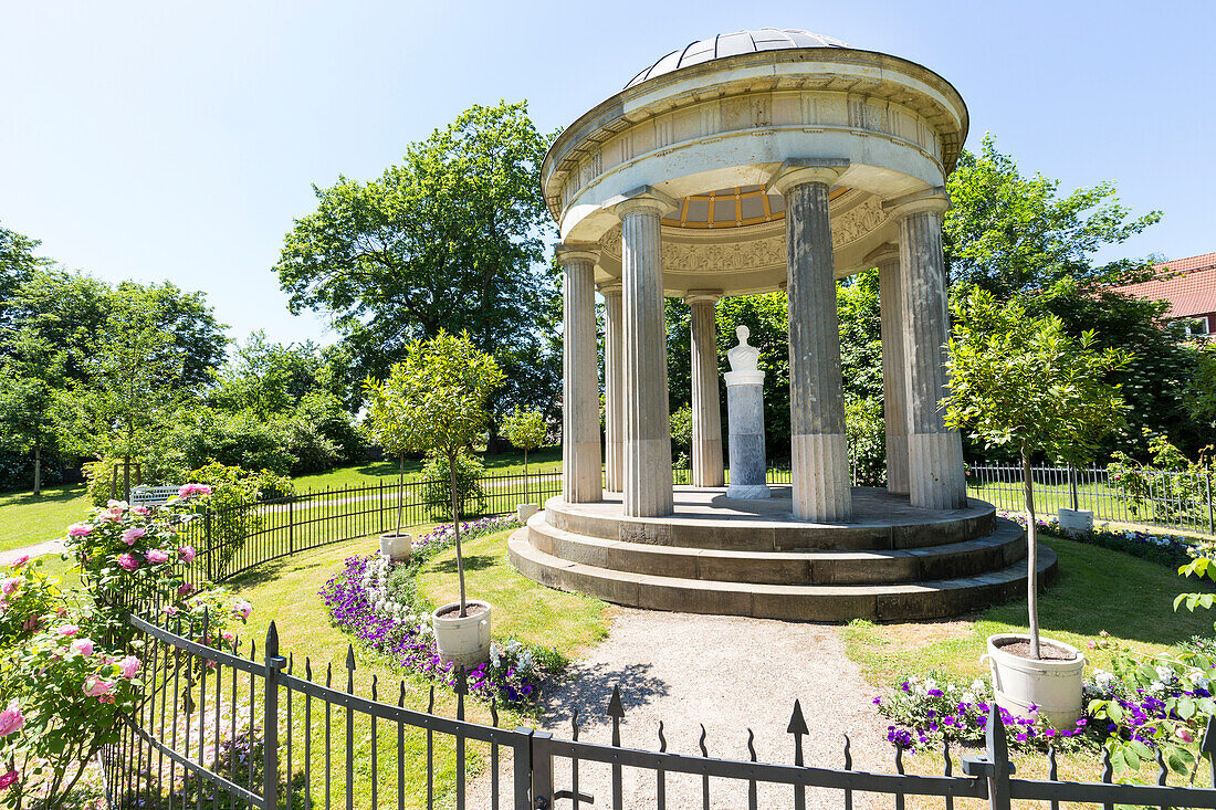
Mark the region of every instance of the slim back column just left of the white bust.
[[721, 486], [722, 403], [717, 389], [717, 324], [714, 304], [720, 289], [692, 289], [692, 485]]

